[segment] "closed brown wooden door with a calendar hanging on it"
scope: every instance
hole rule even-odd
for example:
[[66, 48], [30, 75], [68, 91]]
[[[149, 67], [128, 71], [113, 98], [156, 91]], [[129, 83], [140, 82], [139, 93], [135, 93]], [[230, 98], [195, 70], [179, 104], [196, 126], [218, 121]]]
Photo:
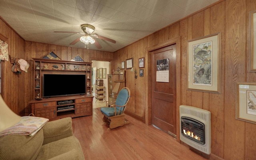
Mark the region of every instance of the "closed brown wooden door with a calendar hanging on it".
[[152, 124], [176, 137], [176, 44], [151, 56]]

